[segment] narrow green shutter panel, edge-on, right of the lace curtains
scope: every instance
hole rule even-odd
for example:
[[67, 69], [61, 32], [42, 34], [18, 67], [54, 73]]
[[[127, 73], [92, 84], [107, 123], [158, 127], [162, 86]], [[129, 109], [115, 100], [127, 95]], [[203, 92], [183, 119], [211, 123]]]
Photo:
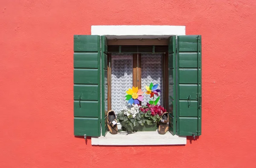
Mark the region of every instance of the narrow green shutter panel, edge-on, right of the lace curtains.
[[169, 131], [176, 134], [176, 36], [169, 37], [168, 44], [168, 112]]

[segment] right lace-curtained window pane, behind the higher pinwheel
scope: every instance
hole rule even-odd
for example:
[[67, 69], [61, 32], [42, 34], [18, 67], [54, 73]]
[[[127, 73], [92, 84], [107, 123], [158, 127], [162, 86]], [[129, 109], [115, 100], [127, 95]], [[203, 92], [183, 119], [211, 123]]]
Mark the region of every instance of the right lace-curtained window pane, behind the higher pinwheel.
[[[163, 54], [141, 54], [141, 88], [143, 92], [146, 92], [145, 86], [149, 86], [151, 82], [159, 84], [157, 89], [161, 92], [158, 104], [163, 106]], [[145, 106], [150, 100], [153, 98], [144, 94], [142, 105]]]

